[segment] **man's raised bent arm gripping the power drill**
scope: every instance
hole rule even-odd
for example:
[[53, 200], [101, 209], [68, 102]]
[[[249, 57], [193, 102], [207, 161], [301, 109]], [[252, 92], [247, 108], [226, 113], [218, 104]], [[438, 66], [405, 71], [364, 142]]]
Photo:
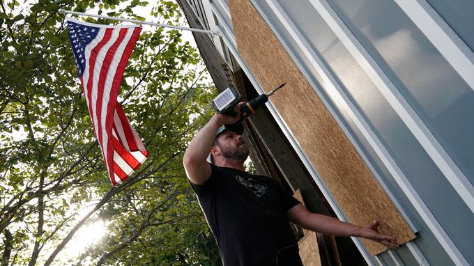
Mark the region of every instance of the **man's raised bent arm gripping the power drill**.
[[184, 152], [183, 164], [188, 178], [196, 185], [203, 185], [211, 176], [211, 166], [206, 161], [213, 146], [215, 134], [221, 125], [234, 124], [240, 119], [239, 103], [234, 108], [237, 116], [215, 114], [211, 120], [197, 132]]

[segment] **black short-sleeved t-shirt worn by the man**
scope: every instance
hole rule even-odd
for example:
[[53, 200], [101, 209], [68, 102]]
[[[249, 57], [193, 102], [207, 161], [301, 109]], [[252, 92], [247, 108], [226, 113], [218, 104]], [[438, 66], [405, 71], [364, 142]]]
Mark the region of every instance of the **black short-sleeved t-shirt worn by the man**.
[[217, 241], [222, 263], [303, 265], [285, 212], [300, 202], [275, 180], [211, 164], [211, 177], [194, 185]]

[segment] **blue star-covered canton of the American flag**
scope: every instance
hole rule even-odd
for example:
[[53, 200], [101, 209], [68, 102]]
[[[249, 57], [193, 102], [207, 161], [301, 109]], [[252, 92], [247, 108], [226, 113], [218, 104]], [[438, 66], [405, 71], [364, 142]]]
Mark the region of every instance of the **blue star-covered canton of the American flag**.
[[68, 29], [69, 40], [76, 61], [77, 74], [81, 77], [84, 74], [84, 68], [86, 68], [84, 48], [97, 36], [100, 28], [68, 21]]

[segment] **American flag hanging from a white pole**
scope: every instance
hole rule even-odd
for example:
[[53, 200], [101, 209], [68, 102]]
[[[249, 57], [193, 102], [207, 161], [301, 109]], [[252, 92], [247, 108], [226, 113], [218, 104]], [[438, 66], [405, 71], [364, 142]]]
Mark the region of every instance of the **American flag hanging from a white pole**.
[[105, 26], [68, 18], [69, 38], [105, 168], [117, 186], [148, 152], [117, 102], [140, 26]]

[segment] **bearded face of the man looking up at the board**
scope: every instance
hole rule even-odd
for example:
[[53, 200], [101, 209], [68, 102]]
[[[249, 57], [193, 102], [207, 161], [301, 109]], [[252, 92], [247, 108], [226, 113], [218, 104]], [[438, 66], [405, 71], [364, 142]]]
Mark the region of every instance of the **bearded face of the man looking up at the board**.
[[229, 159], [245, 161], [250, 153], [242, 139], [242, 135], [229, 130], [217, 137], [216, 146], [219, 147], [222, 156]]

